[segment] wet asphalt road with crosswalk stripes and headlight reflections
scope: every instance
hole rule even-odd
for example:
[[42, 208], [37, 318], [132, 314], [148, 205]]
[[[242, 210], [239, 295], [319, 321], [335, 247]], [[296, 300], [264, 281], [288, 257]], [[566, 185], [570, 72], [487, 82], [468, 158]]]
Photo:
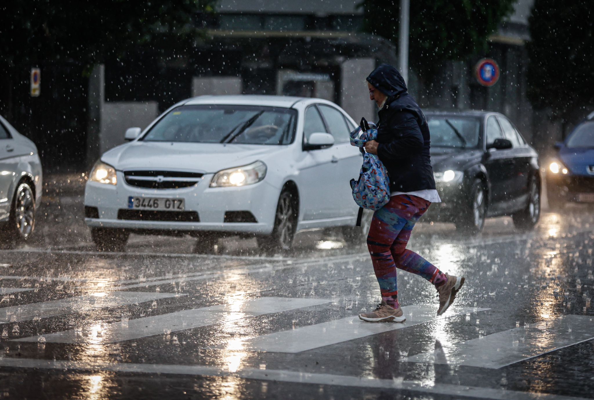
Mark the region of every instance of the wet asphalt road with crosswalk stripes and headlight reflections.
[[409, 247], [466, 284], [438, 319], [401, 272], [407, 321], [369, 324], [353, 316], [379, 300], [371, 261], [338, 234], [272, 257], [160, 236], [98, 253], [81, 186], [60, 184], [34, 241], [0, 250], [0, 398], [594, 398], [592, 208], [530, 233], [419, 224]]

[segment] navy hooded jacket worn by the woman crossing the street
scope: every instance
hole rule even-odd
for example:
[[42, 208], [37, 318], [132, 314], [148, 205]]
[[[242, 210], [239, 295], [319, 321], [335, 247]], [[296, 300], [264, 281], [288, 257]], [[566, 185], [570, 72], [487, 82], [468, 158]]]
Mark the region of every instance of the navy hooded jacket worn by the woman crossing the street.
[[435, 189], [429, 147], [429, 126], [421, 107], [406, 89], [400, 72], [382, 64], [367, 81], [388, 98], [380, 110], [377, 154], [390, 175], [390, 191]]

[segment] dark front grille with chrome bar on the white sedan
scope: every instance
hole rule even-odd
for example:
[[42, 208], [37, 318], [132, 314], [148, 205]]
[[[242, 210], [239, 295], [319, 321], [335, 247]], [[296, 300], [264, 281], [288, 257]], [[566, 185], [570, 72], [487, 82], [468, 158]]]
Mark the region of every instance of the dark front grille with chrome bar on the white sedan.
[[137, 188], [180, 189], [197, 185], [203, 173], [176, 171], [124, 171], [126, 183]]

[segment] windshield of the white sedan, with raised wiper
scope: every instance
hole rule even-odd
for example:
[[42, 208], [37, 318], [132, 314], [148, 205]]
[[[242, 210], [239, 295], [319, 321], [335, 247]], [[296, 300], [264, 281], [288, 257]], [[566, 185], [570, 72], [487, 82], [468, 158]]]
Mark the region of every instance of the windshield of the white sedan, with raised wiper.
[[282, 145], [293, 142], [296, 110], [204, 104], [171, 110], [141, 140]]

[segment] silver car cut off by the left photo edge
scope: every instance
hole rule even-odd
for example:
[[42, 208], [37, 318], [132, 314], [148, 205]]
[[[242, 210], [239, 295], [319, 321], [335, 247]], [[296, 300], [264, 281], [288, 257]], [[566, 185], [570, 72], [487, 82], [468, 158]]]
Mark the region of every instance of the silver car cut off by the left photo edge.
[[42, 195], [37, 147], [0, 116], [0, 238], [3, 245], [26, 242], [35, 228]]

